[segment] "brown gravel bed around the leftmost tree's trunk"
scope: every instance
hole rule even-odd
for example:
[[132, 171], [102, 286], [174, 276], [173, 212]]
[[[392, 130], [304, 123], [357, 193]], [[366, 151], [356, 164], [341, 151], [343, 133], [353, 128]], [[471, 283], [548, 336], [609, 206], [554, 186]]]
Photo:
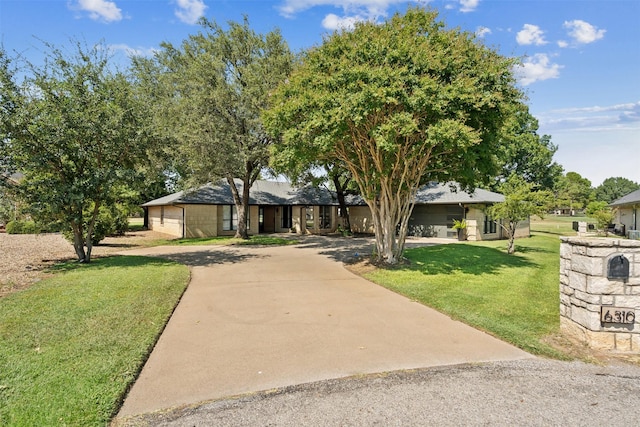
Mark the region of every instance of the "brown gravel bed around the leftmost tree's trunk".
[[[167, 238], [171, 237], [153, 231], [129, 232], [121, 237], [107, 237], [93, 247], [91, 256], [105, 256]], [[46, 277], [47, 269], [52, 265], [75, 258], [73, 245], [59, 233], [0, 233], [0, 297], [29, 287]]]

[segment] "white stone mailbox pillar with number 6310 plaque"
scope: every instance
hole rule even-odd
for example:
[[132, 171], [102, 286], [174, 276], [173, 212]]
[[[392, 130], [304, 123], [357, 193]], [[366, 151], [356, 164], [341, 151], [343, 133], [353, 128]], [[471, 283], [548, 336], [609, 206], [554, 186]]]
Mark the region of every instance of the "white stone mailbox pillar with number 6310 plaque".
[[640, 354], [640, 242], [562, 237], [560, 327], [600, 350]]

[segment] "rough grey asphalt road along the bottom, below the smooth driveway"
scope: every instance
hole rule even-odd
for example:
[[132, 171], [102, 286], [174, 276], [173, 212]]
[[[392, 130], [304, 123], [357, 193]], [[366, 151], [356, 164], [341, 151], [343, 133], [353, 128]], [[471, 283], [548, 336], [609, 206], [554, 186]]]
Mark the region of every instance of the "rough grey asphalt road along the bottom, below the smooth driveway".
[[638, 426], [640, 368], [528, 359], [327, 380], [136, 426]]

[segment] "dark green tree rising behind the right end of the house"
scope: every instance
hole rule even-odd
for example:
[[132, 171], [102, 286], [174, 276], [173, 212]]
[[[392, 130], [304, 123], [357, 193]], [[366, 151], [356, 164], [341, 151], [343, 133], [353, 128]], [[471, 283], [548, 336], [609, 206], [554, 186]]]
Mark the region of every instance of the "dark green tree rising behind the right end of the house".
[[499, 154], [502, 171], [493, 189], [513, 174], [539, 188], [551, 190], [562, 176], [562, 166], [553, 161], [558, 146], [549, 135], [538, 134], [538, 120], [526, 105], [516, 106], [502, 132], [504, 146]]

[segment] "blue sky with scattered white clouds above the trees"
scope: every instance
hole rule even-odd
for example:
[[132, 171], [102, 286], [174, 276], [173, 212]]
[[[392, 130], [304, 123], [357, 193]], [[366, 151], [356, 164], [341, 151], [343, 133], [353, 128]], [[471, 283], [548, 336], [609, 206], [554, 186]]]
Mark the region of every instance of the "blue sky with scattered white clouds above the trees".
[[[206, 16], [249, 17], [261, 33], [279, 28], [293, 50], [358, 20], [382, 21], [415, 5], [399, 0], [0, 0], [0, 42], [39, 62], [44, 47], [70, 39], [104, 42], [115, 59], [179, 44]], [[448, 27], [476, 33], [517, 70], [555, 160], [594, 186], [622, 176], [640, 183], [640, 1], [432, 0]]]

